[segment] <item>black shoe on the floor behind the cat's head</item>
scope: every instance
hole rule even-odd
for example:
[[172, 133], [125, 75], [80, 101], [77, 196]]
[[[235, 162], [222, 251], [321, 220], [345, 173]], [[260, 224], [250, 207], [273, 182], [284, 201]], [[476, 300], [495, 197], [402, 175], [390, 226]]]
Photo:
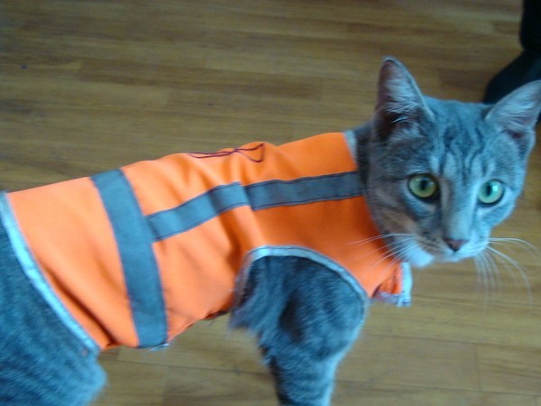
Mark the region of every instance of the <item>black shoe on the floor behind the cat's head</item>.
[[482, 101], [487, 104], [496, 103], [513, 90], [537, 79], [541, 79], [541, 56], [523, 51], [491, 79]]

